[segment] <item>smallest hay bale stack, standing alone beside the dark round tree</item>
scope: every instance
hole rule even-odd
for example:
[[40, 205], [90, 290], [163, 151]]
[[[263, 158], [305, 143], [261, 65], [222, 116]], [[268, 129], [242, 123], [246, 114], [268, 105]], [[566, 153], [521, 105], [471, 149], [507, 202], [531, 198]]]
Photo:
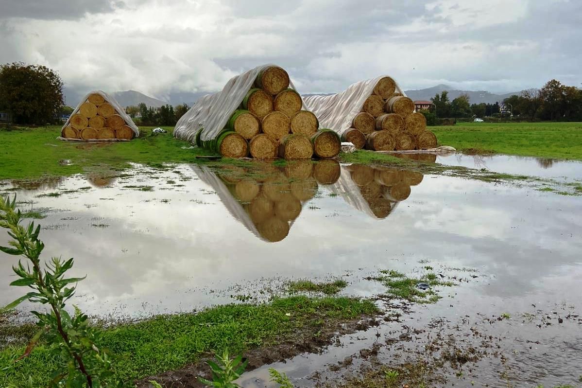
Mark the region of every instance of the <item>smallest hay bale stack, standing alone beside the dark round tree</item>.
[[63, 125], [61, 136], [74, 140], [131, 140], [139, 129], [117, 101], [101, 90], [91, 91]]

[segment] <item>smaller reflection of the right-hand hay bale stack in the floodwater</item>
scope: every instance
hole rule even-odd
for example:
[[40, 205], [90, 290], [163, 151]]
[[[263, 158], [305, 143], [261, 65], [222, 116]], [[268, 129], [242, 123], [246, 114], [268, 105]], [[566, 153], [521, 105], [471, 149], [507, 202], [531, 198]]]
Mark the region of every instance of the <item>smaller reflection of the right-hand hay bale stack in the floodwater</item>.
[[386, 218], [410, 196], [410, 186], [422, 181], [423, 174], [416, 171], [352, 164], [343, 168], [332, 191], [371, 217]]

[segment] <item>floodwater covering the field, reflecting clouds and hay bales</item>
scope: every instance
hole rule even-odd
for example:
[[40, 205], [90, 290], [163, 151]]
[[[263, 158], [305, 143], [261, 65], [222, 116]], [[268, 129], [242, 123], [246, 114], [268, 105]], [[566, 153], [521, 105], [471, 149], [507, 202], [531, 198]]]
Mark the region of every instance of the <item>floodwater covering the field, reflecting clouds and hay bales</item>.
[[[437, 161], [582, 178], [580, 163]], [[73, 276], [88, 275], [73, 303], [112, 320], [261, 301], [300, 278], [341, 277], [342, 292], [360, 297], [385, 292], [370, 280], [379, 270], [430, 267], [455, 279], [436, 304], [378, 299], [396, 319], [340, 336], [322, 354], [249, 372], [243, 386], [267, 385], [269, 366], [296, 385], [325, 386], [395, 359], [433, 365], [442, 361], [434, 349], [445, 347], [457, 353], [435, 386], [580, 383], [580, 197], [331, 161], [219, 171], [136, 165], [118, 178], [3, 182], [0, 190], [46, 215], [38, 220], [45, 258], [73, 256]], [[8, 287], [12, 264], [0, 262], [2, 304], [20, 295]]]

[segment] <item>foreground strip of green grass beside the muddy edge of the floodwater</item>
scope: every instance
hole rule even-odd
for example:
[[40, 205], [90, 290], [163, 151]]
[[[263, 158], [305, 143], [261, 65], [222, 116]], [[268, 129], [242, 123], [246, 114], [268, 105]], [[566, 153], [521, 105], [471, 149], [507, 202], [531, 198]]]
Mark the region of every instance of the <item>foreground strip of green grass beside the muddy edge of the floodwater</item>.
[[[98, 344], [116, 355], [114, 373], [124, 382], [180, 368], [209, 352], [238, 354], [258, 345], [289, 340], [317, 322], [377, 313], [371, 301], [353, 298], [278, 298], [263, 305], [223, 305], [200, 313], [158, 316], [102, 331]], [[314, 328], [317, 331], [317, 328]], [[24, 348], [0, 350], [0, 387], [21, 387], [33, 378], [46, 386], [58, 362], [40, 345], [13, 364]]]

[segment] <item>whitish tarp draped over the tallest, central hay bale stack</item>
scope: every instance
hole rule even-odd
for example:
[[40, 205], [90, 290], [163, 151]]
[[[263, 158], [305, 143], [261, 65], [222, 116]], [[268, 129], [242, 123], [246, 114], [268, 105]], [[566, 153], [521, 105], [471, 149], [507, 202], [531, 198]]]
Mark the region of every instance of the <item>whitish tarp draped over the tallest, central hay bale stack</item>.
[[[217, 137], [218, 133], [226, 126], [233, 112], [239, 108], [247, 92], [253, 89], [258, 73], [268, 66], [276, 65], [257, 66], [232, 77], [225, 84], [222, 91], [201, 97], [178, 120], [174, 128], [174, 137], [194, 143], [196, 141], [196, 132], [200, 128], [204, 128], [200, 136], [201, 140], [212, 140]], [[293, 82], [289, 82], [289, 87], [295, 89]]]

